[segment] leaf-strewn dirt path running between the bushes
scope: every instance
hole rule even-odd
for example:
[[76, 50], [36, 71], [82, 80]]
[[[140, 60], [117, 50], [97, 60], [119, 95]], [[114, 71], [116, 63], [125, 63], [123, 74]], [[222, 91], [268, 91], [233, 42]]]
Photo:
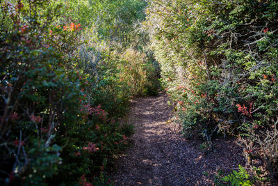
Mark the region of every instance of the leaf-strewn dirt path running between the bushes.
[[135, 125], [133, 146], [120, 155], [111, 173], [115, 185], [213, 185], [221, 169], [245, 165], [234, 139], [214, 139], [204, 153], [199, 139], [184, 139], [167, 95], [131, 100], [128, 121]]

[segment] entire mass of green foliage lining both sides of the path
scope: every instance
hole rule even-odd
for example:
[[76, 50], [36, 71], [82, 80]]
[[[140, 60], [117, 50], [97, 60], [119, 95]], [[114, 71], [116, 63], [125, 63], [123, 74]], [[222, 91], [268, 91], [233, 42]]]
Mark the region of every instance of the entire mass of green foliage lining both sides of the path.
[[0, 2], [1, 185], [111, 184], [128, 101], [160, 77], [186, 137], [238, 137], [278, 177], [277, 1]]

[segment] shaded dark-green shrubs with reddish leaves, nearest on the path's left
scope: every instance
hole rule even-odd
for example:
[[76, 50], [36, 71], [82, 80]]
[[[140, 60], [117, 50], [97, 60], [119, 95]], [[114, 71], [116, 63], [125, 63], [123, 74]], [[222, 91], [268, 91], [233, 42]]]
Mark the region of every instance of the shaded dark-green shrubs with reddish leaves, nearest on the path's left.
[[81, 55], [92, 49], [83, 25], [59, 7], [1, 2], [3, 185], [106, 184], [106, 169], [129, 145], [133, 128], [117, 122], [131, 96], [117, 70], [122, 61], [104, 49], [99, 63], [85, 62], [94, 54]]

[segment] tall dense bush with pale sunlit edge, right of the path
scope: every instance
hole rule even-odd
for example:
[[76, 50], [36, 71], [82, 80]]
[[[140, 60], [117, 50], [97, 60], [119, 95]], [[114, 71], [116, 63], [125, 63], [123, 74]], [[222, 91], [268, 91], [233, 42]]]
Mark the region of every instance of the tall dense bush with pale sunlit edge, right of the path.
[[250, 164], [278, 176], [278, 3], [167, 1], [147, 8], [145, 29], [177, 101], [187, 137], [238, 136]]

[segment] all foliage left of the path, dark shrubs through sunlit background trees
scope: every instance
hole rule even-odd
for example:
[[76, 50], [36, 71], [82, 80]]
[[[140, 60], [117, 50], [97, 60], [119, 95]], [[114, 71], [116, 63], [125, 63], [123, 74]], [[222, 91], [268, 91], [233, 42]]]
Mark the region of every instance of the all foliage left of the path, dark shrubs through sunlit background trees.
[[158, 90], [142, 36], [126, 39], [145, 6], [1, 1], [0, 185], [111, 183], [133, 132], [119, 122], [128, 100]]

